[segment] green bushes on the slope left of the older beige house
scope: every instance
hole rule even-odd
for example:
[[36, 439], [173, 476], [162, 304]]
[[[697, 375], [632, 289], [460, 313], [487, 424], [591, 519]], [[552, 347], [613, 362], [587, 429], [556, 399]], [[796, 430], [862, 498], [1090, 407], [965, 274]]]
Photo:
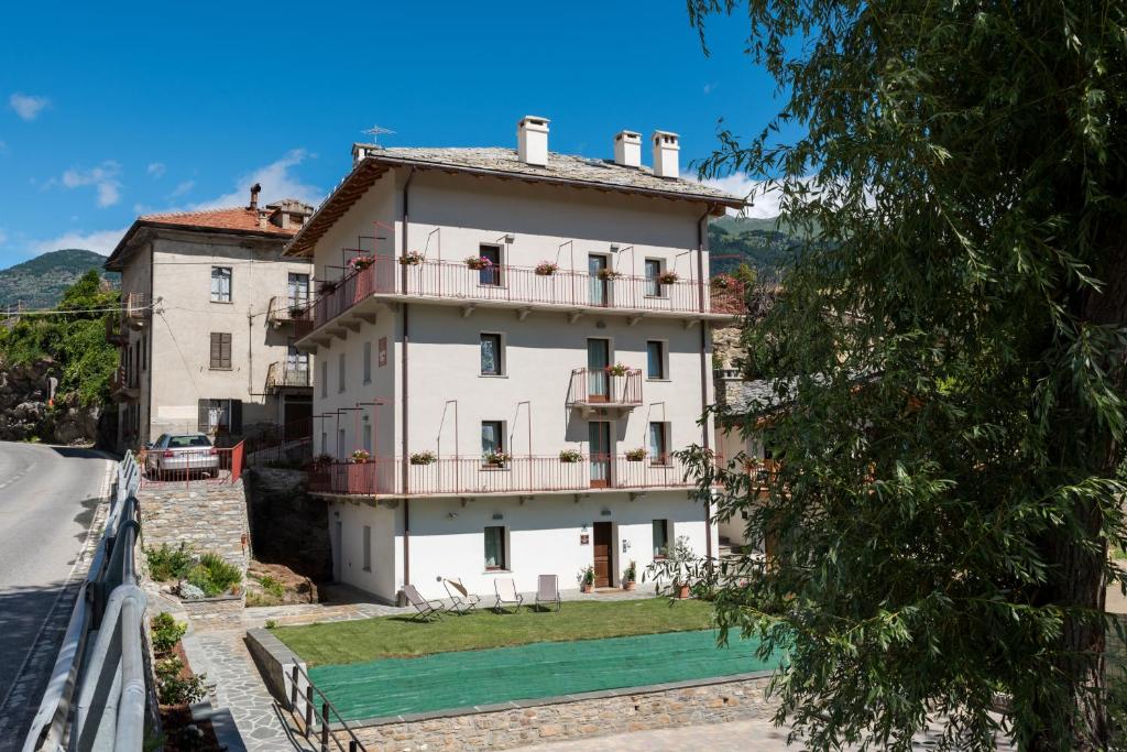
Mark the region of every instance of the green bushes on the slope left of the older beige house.
[[56, 309], [64, 312], [28, 316], [0, 328], [0, 356], [14, 364], [51, 359], [60, 369], [57, 399], [72, 398], [82, 407], [103, 404], [118, 362], [117, 350], [106, 340], [106, 320], [118, 315], [106, 309], [116, 309], [119, 300], [91, 269], [63, 293]]

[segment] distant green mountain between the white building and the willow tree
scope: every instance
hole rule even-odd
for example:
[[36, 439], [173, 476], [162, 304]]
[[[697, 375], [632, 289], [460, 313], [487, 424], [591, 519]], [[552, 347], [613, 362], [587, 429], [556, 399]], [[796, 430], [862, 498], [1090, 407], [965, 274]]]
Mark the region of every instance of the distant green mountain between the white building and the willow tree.
[[709, 222], [708, 242], [712, 274], [747, 264], [761, 276], [778, 276], [798, 245], [795, 229], [780, 216], [721, 216]]

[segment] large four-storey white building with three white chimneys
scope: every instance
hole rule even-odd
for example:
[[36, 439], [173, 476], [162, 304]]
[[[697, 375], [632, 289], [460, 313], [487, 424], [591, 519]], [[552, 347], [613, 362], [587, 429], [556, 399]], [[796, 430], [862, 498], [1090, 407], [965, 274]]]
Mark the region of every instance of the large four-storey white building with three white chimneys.
[[678, 177], [676, 134], [654, 134], [649, 169], [638, 133], [604, 161], [550, 152], [548, 130], [523, 118], [516, 150], [356, 144], [286, 249], [321, 285], [298, 346], [337, 463], [311, 487], [337, 578], [380, 598], [575, 587], [587, 566], [618, 586], [682, 536], [716, 554], [671, 452], [711, 443], [706, 223], [742, 202]]

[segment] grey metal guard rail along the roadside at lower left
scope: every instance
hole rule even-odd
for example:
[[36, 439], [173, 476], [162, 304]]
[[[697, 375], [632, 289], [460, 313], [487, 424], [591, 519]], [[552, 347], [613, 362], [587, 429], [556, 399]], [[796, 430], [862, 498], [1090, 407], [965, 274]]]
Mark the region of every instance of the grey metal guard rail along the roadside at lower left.
[[[24, 752], [142, 749], [148, 696], [142, 639], [147, 599], [137, 587], [133, 558], [140, 534], [135, 497], [140, 481], [141, 469], [132, 452], [126, 452], [117, 466], [117, 488], [103, 537], [76, 599]], [[94, 651], [85, 661], [88, 637], [99, 625]], [[69, 740], [64, 738], [68, 722], [72, 722]]]

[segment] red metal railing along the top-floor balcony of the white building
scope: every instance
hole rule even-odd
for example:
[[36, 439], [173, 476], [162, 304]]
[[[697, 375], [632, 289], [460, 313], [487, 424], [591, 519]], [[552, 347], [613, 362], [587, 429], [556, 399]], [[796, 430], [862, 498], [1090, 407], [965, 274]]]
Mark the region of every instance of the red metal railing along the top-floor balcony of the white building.
[[653, 277], [612, 274], [603, 278], [562, 269], [545, 275], [532, 267], [507, 265], [477, 269], [463, 262], [402, 265], [396, 257], [376, 256], [371, 266], [323, 286], [311, 307], [312, 317], [294, 318], [311, 318], [314, 327], [323, 326], [370, 295], [666, 313], [710, 310], [708, 285], [695, 281], [663, 284]]

